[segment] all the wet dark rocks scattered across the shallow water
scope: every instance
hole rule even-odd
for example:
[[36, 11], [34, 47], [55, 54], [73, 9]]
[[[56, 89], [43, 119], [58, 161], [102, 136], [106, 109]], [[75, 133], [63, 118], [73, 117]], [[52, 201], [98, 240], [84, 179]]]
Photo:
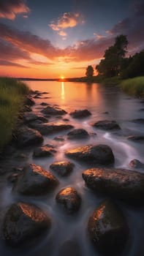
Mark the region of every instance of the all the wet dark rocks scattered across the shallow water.
[[[39, 197], [48, 195], [58, 188], [61, 178], [72, 175], [74, 162], [82, 162], [89, 166], [88, 170], [83, 167], [82, 181], [96, 195], [102, 194], [106, 197], [94, 212], [87, 219], [86, 233], [100, 254], [121, 255], [127, 241], [129, 241], [130, 227], [121, 207], [115, 204], [115, 200], [122, 200], [126, 204], [141, 206], [144, 204], [144, 174], [135, 170], [115, 169], [115, 152], [110, 146], [104, 144], [87, 144], [76, 148], [69, 148], [64, 151], [67, 158], [61, 161], [53, 160], [47, 168], [31, 163], [27, 160], [26, 154], [30, 152], [33, 159], [54, 158], [58, 146], [45, 144], [45, 136], [56, 135], [58, 132], [67, 132], [67, 140], [85, 140], [91, 137], [86, 129], [76, 129], [69, 124], [68, 118], [64, 118], [67, 112], [58, 106], [48, 105], [41, 102], [42, 109], [34, 113], [31, 106], [35, 104], [34, 99], [42, 99], [45, 92], [31, 91], [26, 99], [26, 106], [23, 110], [23, 118], [20, 118], [19, 126], [15, 132], [10, 146], [7, 146], [4, 159], [1, 157], [1, 175], [5, 175], [7, 182], [12, 187], [12, 193], [25, 195], [25, 202], [12, 203], [7, 208], [1, 220], [1, 241], [9, 246], [20, 246], [20, 244], [39, 237], [45, 231], [50, 230], [53, 225], [53, 217], [45, 214], [42, 208], [26, 201], [26, 197]], [[43, 97], [45, 99], [45, 97]], [[51, 116], [58, 117], [61, 122], [53, 123]], [[88, 110], [75, 110], [69, 113], [72, 118], [86, 118], [91, 116]], [[115, 121], [96, 121], [91, 124], [96, 129], [119, 130], [121, 127]], [[128, 138], [132, 140], [132, 138]], [[57, 136], [56, 141], [63, 141], [64, 138]], [[133, 140], [136, 140], [133, 138]], [[138, 139], [137, 139], [138, 140]], [[24, 152], [23, 153], [23, 148]], [[17, 159], [12, 162], [12, 157]], [[11, 162], [10, 162], [11, 159]], [[4, 165], [4, 161], [7, 162]], [[23, 163], [25, 163], [23, 165]], [[143, 163], [133, 159], [129, 168], [142, 169]], [[5, 168], [5, 169], [4, 169]], [[50, 169], [50, 170], [49, 170]], [[59, 211], [64, 211], [75, 217], [83, 204], [82, 195], [75, 187], [64, 187], [57, 190], [56, 203]], [[64, 246], [63, 246], [64, 247]], [[63, 256], [67, 255], [62, 249]], [[61, 249], [60, 249], [61, 255]], [[82, 255], [82, 254], [78, 254]]]

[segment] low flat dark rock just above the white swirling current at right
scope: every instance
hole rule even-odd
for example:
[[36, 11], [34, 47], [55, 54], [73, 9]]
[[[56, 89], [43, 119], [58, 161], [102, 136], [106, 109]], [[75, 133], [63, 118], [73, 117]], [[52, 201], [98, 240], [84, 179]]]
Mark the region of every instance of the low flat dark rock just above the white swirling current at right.
[[102, 120], [96, 121], [96, 123], [92, 124], [93, 127], [98, 129], [105, 129], [105, 130], [113, 130], [113, 129], [121, 129], [116, 121], [110, 120]]

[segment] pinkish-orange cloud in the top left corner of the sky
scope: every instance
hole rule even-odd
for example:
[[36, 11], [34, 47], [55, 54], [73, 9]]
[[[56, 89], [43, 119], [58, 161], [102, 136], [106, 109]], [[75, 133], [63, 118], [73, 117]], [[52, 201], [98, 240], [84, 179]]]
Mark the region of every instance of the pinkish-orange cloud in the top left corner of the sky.
[[23, 14], [26, 18], [30, 12], [23, 0], [1, 0], [0, 1], [0, 18], [15, 20], [16, 15]]

